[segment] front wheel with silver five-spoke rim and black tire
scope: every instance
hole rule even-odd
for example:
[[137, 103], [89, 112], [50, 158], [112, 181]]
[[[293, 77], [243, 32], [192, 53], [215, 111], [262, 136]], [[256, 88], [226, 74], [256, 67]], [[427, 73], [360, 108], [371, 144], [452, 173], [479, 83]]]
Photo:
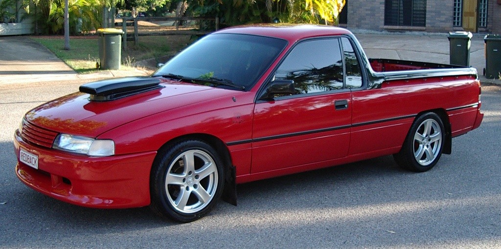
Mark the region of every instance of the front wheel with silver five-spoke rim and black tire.
[[180, 222], [205, 216], [221, 196], [224, 170], [217, 152], [200, 140], [159, 151], [150, 178], [151, 209]]

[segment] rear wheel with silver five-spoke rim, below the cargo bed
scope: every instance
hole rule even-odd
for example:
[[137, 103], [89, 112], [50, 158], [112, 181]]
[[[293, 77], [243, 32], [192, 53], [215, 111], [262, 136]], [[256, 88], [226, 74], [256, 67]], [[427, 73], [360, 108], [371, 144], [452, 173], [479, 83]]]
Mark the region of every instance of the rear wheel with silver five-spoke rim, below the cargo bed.
[[424, 172], [440, 159], [444, 140], [442, 119], [434, 112], [427, 112], [412, 123], [400, 152], [393, 157], [401, 167]]

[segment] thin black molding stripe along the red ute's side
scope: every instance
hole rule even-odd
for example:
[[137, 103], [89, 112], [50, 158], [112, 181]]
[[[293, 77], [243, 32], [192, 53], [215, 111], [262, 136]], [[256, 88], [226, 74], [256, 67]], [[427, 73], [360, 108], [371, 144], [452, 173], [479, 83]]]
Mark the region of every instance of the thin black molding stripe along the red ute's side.
[[[460, 106], [460, 107], [454, 107], [454, 108], [450, 108], [450, 109], [446, 109], [446, 110], [452, 111], [452, 110], [470, 108], [470, 107], [474, 107], [475, 105], [478, 105], [478, 103], [469, 104], [469, 105]], [[406, 116], [399, 116], [399, 117], [375, 120], [375, 121], [370, 121], [370, 122], [354, 123], [351, 125], [336, 126], [336, 127], [330, 127], [330, 128], [324, 128], [324, 129], [306, 130], [306, 131], [293, 132], [293, 133], [287, 133], [287, 134], [259, 137], [259, 138], [255, 138], [255, 139], [245, 139], [245, 140], [227, 142], [226, 145], [231, 146], [231, 145], [238, 145], [238, 144], [244, 144], [244, 143], [249, 143], [249, 142], [260, 142], [260, 141], [273, 140], [273, 139], [292, 137], [292, 136], [298, 136], [298, 135], [314, 134], [314, 133], [325, 132], [325, 131], [333, 131], [333, 130], [337, 130], [337, 129], [345, 129], [345, 128], [352, 128], [352, 127], [359, 127], [359, 126], [363, 126], [363, 125], [390, 122], [390, 121], [406, 119], [406, 118], [414, 118], [416, 116], [417, 116], [417, 114], [412, 114], [412, 115], [406, 115]]]

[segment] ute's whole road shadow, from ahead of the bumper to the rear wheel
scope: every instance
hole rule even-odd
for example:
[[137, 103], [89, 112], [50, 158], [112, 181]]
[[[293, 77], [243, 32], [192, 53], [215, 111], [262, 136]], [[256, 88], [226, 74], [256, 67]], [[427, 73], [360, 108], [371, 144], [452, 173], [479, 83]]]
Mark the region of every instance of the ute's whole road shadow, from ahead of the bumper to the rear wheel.
[[[158, 217], [148, 207], [95, 209], [48, 197], [24, 185], [15, 176], [14, 167], [17, 160], [13, 152], [12, 142], [0, 142], [0, 150], [12, 151], [2, 156], [4, 157], [2, 158], [4, 164], [2, 177], [5, 179], [4, 182], [7, 183], [4, 186], [6, 190], [3, 191], [5, 198], [0, 199], [0, 202], [7, 202], [2, 206], [2, 209], [10, 213], [6, 217], [7, 221], [14, 222], [18, 220], [18, 217], [29, 220], [28, 223], [22, 223], [20, 228], [25, 227], [28, 229], [32, 223], [44, 224], [44, 226], [51, 224], [50, 226], [54, 226], [54, 228], [66, 227], [80, 233], [84, 231], [79, 230], [78, 227], [89, 225], [92, 225], [97, 232], [100, 230], [106, 231], [110, 228], [127, 230], [178, 224]], [[351, 184], [349, 182], [358, 182], [357, 185], [360, 187], [365, 184], [363, 182], [370, 178], [378, 178], [378, 175], [384, 174], [389, 177], [401, 173], [402, 170], [396, 167], [391, 157], [380, 157], [358, 163], [240, 184], [237, 186], [238, 206], [219, 203], [214, 210], [214, 214], [209, 216], [215, 218], [216, 213], [222, 211], [233, 212], [240, 207], [245, 210], [257, 208], [263, 211], [276, 208], [273, 205], [270, 206], [270, 202], [267, 201], [268, 198], [297, 205], [294, 202], [298, 201], [298, 193], [304, 193], [302, 198], [306, 198], [307, 203], [320, 201], [322, 195], [325, 194], [323, 191], [332, 191], [330, 188], [336, 188], [338, 184], [346, 185]], [[326, 187], [319, 191], [315, 189], [318, 185]], [[257, 201], [258, 199], [260, 201]]]

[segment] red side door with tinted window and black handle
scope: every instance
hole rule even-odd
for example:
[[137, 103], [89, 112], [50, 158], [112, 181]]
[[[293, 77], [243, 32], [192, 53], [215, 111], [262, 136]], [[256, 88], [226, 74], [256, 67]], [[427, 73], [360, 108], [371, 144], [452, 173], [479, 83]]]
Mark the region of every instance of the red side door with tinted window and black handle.
[[296, 92], [257, 101], [251, 173], [348, 154], [352, 100], [341, 51], [339, 37], [305, 40], [279, 65], [272, 80], [294, 80]]

